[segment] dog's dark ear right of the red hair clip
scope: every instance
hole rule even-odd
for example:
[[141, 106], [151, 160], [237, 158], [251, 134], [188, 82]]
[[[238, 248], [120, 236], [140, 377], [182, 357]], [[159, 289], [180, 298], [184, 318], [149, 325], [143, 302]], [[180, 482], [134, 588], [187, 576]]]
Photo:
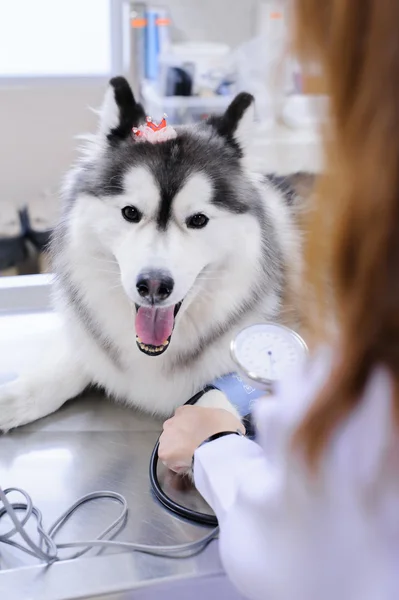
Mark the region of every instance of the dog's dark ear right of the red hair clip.
[[251, 139], [254, 121], [255, 98], [246, 92], [234, 98], [222, 117], [209, 119], [209, 123], [219, 135], [226, 138], [228, 142], [238, 145], [241, 151], [245, 151]]

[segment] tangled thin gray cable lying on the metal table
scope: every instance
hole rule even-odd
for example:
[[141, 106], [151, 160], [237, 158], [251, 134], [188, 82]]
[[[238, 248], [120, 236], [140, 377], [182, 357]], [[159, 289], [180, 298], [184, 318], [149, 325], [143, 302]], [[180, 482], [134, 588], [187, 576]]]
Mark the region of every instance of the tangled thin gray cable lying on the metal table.
[[[7, 496], [11, 493], [21, 494], [25, 502], [10, 502]], [[54, 540], [56, 534], [62, 529], [66, 522], [71, 518], [73, 513], [78, 510], [83, 504], [93, 502], [94, 500], [110, 499], [119, 502], [122, 506], [120, 515], [100, 533], [95, 540], [67, 542], [57, 544]], [[3, 506], [1, 506], [3, 504]], [[23, 511], [25, 514], [21, 520], [17, 517], [17, 512]], [[62, 560], [71, 560], [79, 558], [86, 552], [89, 552], [95, 547], [101, 548], [124, 548], [134, 552], [143, 552], [155, 556], [164, 556], [168, 558], [190, 558], [202, 552], [205, 547], [217, 537], [218, 528], [213, 529], [200, 540], [188, 542], [185, 544], [176, 544], [173, 546], [152, 546], [149, 544], [136, 544], [132, 542], [118, 542], [111, 539], [104, 539], [107, 536], [113, 537], [124, 527], [128, 514], [128, 506], [126, 499], [116, 492], [99, 491], [91, 494], [86, 494], [77, 500], [70, 508], [68, 508], [56, 521], [52, 524], [48, 531], [44, 529], [43, 517], [40, 510], [34, 506], [31, 497], [27, 492], [19, 488], [8, 488], [2, 490], [0, 487], [0, 520], [5, 515], [11, 519], [14, 527], [6, 533], [0, 533], [0, 544], [7, 544], [18, 548], [22, 552], [34, 556], [47, 564], [51, 564]], [[29, 536], [25, 530], [25, 525], [31, 517], [36, 519], [37, 532], [39, 535], [39, 544]], [[13, 539], [16, 535], [20, 535], [26, 546], [16, 542]], [[45, 549], [44, 549], [45, 546]], [[60, 558], [59, 550], [65, 548], [83, 548], [79, 552], [75, 552], [68, 557]]]

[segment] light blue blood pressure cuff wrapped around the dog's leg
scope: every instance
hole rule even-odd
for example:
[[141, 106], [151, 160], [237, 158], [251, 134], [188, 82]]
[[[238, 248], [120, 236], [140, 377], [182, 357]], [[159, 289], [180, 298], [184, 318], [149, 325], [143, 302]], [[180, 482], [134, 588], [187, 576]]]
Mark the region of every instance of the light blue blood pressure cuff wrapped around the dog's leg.
[[252, 421], [252, 407], [258, 398], [265, 395], [262, 390], [257, 390], [242, 379], [237, 373], [230, 373], [216, 379], [212, 387], [220, 390], [227, 396], [231, 404], [235, 406], [240, 416], [243, 418], [247, 430], [247, 436], [255, 437], [255, 428]]

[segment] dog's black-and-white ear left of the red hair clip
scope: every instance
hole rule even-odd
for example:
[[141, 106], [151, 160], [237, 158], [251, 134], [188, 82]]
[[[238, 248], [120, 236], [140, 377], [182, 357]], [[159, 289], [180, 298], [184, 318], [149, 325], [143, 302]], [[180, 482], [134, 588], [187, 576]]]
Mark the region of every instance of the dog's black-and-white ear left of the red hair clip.
[[131, 135], [133, 127], [144, 122], [144, 109], [136, 102], [126, 79], [111, 79], [100, 110], [100, 134], [109, 142], [118, 143]]

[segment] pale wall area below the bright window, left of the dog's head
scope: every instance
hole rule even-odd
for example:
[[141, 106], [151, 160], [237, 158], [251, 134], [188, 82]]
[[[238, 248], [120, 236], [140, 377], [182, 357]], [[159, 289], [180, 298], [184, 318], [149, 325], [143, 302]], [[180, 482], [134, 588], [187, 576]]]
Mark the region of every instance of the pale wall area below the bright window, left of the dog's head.
[[106, 83], [0, 89], [0, 202], [18, 204], [57, 189], [75, 158], [74, 136], [96, 127]]

